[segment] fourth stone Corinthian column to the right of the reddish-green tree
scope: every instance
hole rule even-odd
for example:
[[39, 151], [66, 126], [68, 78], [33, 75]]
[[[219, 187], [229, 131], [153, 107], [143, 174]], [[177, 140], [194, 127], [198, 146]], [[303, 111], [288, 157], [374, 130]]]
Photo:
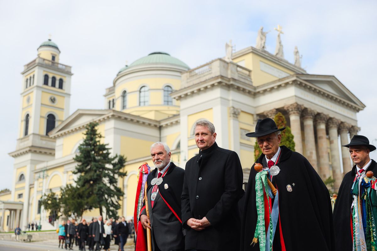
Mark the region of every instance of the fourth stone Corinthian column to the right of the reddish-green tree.
[[329, 137], [330, 137], [330, 150], [331, 150], [331, 164], [333, 165], [333, 178], [334, 189], [337, 192], [340, 187], [340, 183], [343, 180], [343, 173], [340, 169], [340, 154], [339, 154], [339, 143], [338, 143], [338, 126], [340, 120], [331, 118], [328, 120], [329, 127]]

